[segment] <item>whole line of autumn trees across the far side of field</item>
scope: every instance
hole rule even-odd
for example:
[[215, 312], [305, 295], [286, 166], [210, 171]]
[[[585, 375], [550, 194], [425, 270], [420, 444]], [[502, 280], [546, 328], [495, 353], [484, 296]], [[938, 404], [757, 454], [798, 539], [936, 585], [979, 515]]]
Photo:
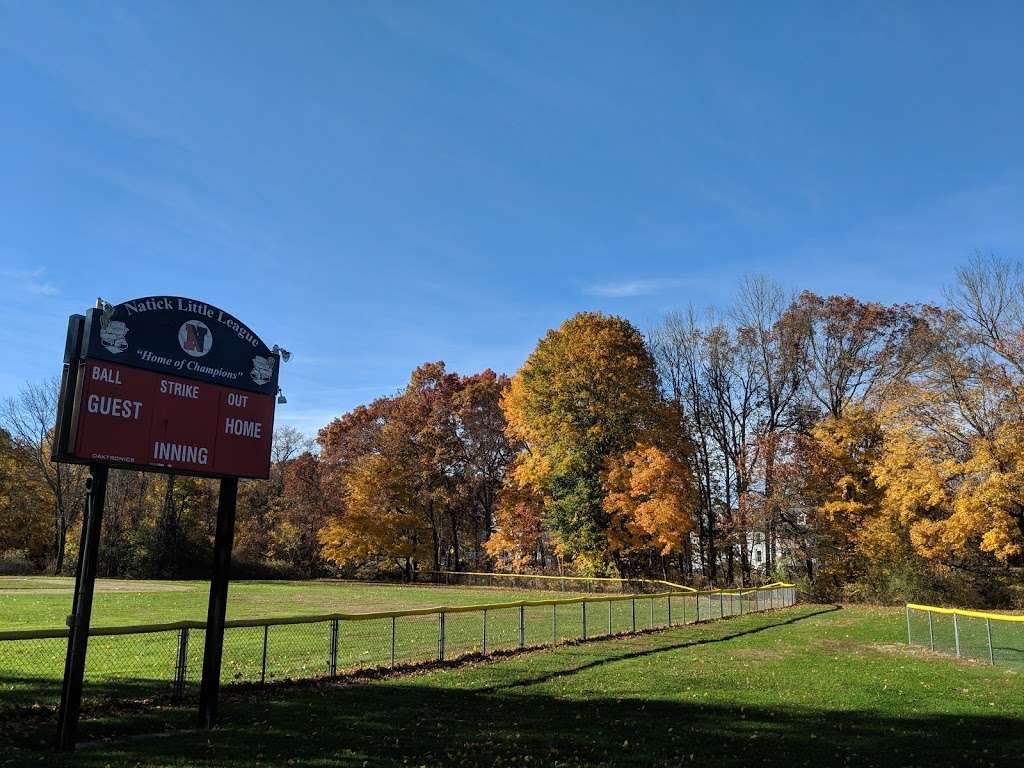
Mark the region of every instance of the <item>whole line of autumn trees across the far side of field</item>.
[[[45, 461], [45, 418], [15, 419], [44, 394], [4, 414], [0, 509], [18, 522], [0, 550], [67, 569], [80, 473]], [[243, 485], [254, 569], [786, 577], [1005, 603], [1024, 565], [1024, 273], [977, 258], [941, 305], [894, 306], [751, 278], [730, 307], [646, 334], [584, 312], [511, 379], [421, 366], [309, 449], [279, 434], [271, 480]], [[208, 557], [211, 483], [115, 487], [109, 572]]]

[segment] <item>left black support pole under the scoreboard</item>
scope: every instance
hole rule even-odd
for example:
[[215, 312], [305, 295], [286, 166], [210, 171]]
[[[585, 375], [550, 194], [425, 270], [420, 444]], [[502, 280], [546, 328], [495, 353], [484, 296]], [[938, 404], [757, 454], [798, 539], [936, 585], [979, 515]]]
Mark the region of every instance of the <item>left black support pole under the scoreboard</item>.
[[57, 749], [75, 749], [78, 716], [82, 710], [82, 681], [85, 678], [85, 653], [89, 646], [89, 623], [92, 620], [92, 593], [96, 585], [96, 559], [99, 555], [99, 529], [103, 521], [103, 501], [106, 498], [108, 469], [90, 465], [87, 482], [85, 516], [82, 520], [82, 542], [78, 553], [75, 596], [72, 613], [68, 616], [68, 654], [60, 687], [60, 710], [57, 713]]

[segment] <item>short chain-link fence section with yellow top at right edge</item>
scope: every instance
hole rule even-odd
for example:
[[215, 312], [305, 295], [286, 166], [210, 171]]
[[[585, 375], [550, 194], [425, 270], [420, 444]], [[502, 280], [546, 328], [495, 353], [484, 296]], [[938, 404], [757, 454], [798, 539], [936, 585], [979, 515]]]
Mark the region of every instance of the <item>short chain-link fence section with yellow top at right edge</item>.
[[957, 658], [1024, 666], [1022, 615], [907, 603], [906, 639]]

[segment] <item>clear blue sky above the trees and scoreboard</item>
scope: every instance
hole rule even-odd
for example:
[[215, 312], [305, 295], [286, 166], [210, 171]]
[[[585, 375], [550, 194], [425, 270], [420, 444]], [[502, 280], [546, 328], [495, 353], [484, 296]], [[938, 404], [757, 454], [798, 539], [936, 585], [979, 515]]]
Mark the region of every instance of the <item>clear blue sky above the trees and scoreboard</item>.
[[736, 280], [935, 300], [1024, 254], [1014, 3], [0, 0], [0, 396], [97, 296], [295, 353], [308, 433], [416, 365]]

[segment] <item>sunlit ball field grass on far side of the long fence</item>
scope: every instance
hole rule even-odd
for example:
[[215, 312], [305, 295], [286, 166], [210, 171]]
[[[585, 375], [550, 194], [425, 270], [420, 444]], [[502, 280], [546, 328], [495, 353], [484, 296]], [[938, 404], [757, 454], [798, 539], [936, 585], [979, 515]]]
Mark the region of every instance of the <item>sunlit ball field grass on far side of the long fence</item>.
[[[0, 631], [53, 629], [63, 625], [71, 605], [69, 580], [0, 580], [17, 582], [15, 589], [0, 586]], [[365, 613], [401, 608], [509, 602], [523, 598], [564, 596], [562, 593], [492, 588], [402, 586], [353, 582], [238, 582], [228, 594], [228, 618], [273, 618]], [[570, 595], [571, 596], [571, 595]], [[93, 605], [93, 628], [205, 621], [208, 586], [199, 582], [100, 580]], [[659, 606], [660, 607], [660, 606]], [[563, 630], [567, 612], [560, 606]], [[577, 611], [578, 612], [578, 611]], [[662, 611], [664, 612], [664, 608]], [[572, 615], [574, 616], [574, 612]], [[492, 648], [517, 644], [518, 609], [493, 611], [488, 626]], [[655, 616], [664, 621], [662, 616]], [[451, 623], [452, 654], [462, 647], [477, 649], [478, 618], [455, 616]], [[546, 642], [549, 621], [531, 622]], [[229, 629], [224, 638], [222, 679], [239, 682], [304, 679], [327, 675], [331, 624], [279, 625], [267, 634], [261, 627]], [[343, 623], [338, 642], [337, 669], [390, 666], [391, 622], [374, 620]], [[428, 660], [437, 654], [435, 615], [403, 617], [395, 628], [395, 662]], [[178, 664], [178, 631], [132, 635], [96, 635], [90, 639], [86, 664], [87, 703], [166, 695], [173, 687]], [[262, 663], [266, 642], [266, 664]], [[198, 690], [202, 672], [204, 633], [193, 630], [187, 639], [186, 695]], [[0, 641], [0, 716], [4, 711], [52, 706], [59, 697], [67, 641], [60, 638]], [[9, 718], [8, 718], [9, 719]]]

